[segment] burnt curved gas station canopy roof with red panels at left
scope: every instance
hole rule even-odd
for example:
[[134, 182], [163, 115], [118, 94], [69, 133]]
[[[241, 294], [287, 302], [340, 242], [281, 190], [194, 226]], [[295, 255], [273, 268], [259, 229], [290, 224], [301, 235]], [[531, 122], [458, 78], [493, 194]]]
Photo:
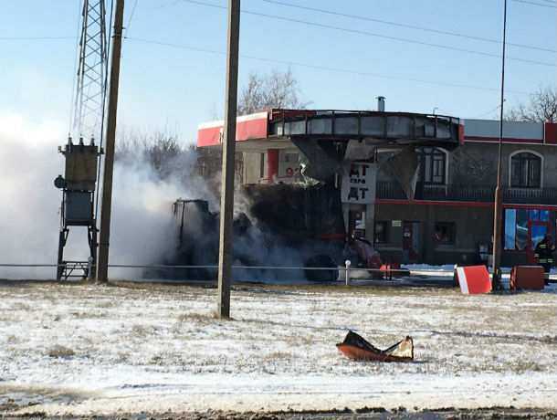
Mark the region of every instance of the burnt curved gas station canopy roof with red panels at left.
[[[223, 121], [201, 124], [197, 145], [220, 145], [223, 125]], [[273, 109], [236, 120], [238, 151], [292, 147], [292, 141], [300, 143], [304, 139], [357, 140], [371, 146], [435, 146], [447, 150], [464, 140], [459, 119], [409, 112]]]

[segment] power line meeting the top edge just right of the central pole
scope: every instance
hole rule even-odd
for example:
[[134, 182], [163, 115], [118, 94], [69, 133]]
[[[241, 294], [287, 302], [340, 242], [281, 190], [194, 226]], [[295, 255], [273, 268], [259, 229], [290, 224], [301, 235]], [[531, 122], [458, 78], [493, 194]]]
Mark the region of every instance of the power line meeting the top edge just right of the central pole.
[[[310, 7], [310, 6], [307, 6], [307, 5], [293, 5], [291, 3], [286, 3], [286, 2], [277, 1], [277, 0], [261, 0], [261, 1], [265, 2], [265, 3], [269, 3], [271, 5], [283, 5], [283, 6], [286, 6], [286, 7], [294, 7], [294, 8], [297, 8], [297, 9], [309, 10], [311, 12], [319, 12], [319, 13], [326, 14], [326, 15], [331, 15], [331, 16], [342, 16], [342, 17], [348, 17], [348, 18], [351, 18], [351, 19], [356, 19], [356, 20], [361, 20], [361, 21], [376, 22], [376, 23], [380, 23], [380, 24], [384, 24], [384, 25], [397, 26], [397, 27], [405, 27], [405, 28], [408, 28], [408, 29], [415, 29], [415, 30], [420, 30], [420, 31], [424, 31], [424, 32], [430, 32], [430, 33], [437, 34], [437, 35], [447, 35], [447, 36], [450, 36], [450, 37], [462, 37], [462, 38], [467, 38], [467, 39], [473, 39], [473, 40], [476, 40], [476, 41], [489, 42], [489, 43], [492, 43], [492, 44], [500, 44], [501, 43], [501, 41], [499, 39], [460, 34], [458, 32], [444, 31], [444, 30], [434, 29], [434, 28], [430, 28], [430, 27], [426, 27], [426, 26], [408, 25], [408, 24], [403, 24], [403, 23], [400, 23], [400, 22], [377, 19], [377, 18], [369, 17], [369, 16], [349, 15], [349, 14], [342, 13], [342, 12], [335, 12], [333, 10], [326, 10], [326, 9], [321, 9], [321, 8], [317, 8], [317, 7]], [[507, 43], [507, 45], [510, 45], [512, 47], [535, 49], [535, 50], [539, 50], [539, 51], [546, 51], [546, 52], [552, 52], [552, 53], [557, 52], [557, 50], [555, 50], [555, 49], [545, 48], [545, 47], [536, 47], [536, 46], [530, 46], [530, 45], [525, 45], [525, 44]]]

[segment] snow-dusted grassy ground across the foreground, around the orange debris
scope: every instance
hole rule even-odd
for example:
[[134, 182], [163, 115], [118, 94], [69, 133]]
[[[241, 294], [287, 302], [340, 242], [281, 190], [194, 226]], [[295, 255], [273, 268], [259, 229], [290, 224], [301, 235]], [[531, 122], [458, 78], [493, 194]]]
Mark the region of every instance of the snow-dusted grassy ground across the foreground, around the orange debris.
[[[213, 317], [215, 295], [0, 284], [0, 406], [47, 415], [557, 408], [554, 285], [499, 296], [236, 286], [229, 321]], [[348, 329], [379, 347], [410, 334], [416, 360], [349, 361], [334, 345]]]

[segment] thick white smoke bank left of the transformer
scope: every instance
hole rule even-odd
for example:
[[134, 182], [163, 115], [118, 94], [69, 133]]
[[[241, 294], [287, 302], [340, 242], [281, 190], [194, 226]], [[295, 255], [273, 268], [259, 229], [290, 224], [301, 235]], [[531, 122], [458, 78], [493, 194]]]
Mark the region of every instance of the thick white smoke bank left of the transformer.
[[[0, 113], [0, 264], [54, 264], [60, 194], [52, 184], [62, 126]], [[44, 278], [51, 269], [2, 268], [0, 278]]]

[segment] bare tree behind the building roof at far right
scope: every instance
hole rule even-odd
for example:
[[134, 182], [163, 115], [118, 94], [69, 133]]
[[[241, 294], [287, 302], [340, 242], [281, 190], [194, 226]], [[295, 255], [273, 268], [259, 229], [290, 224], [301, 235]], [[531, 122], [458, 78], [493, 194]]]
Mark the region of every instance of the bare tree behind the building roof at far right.
[[530, 101], [520, 103], [509, 111], [509, 121], [557, 122], [557, 89], [540, 88], [530, 95]]

